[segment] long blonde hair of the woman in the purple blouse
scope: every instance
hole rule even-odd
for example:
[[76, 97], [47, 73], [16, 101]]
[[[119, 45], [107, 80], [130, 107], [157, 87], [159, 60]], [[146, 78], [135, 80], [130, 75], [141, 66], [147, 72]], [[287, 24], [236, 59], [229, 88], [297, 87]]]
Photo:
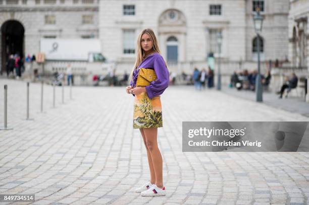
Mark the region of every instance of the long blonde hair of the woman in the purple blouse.
[[[130, 73], [130, 77], [129, 77], [129, 83], [130, 81], [133, 79], [133, 72], [134, 70], [137, 68], [137, 66], [144, 60], [145, 58], [145, 52], [144, 50], [141, 48], [140, 44], [141, 44], [141, 37], [143, 34], [147, 33], [150, 36], [151, 42], [152, 42], [152, 50], [156, 53], [159, 53], [161, 55], [161, 51], [159, 48], [159, 44], [158, 44], [158, 40], [157, 37], [155, 35], [155, 32], [153, 32], [153, 30], [151, 28], [146, 28], [144, 30], [141, 31], [141, 33], [138, 35], [137, 38], [137, 53], [136, 53], [136, 60], [134, 63], [134, 67]], [[167, 67], [167, 63], [165, 62], [165, 65]]]

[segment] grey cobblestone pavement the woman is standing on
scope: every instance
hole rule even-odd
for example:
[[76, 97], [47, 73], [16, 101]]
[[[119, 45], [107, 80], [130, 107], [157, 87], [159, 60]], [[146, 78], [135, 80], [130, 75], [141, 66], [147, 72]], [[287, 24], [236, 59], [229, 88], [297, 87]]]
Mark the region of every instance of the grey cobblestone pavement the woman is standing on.
[[[35, 194], [33, 204], [308, 204], [308, 152], [182, 152], [182, 121], [308, 121], [300, 114], [217, 91], [170, 87], [162, 95], [158, 131], [167, 195], [133, 190], [149, 178], [146, 150], [132, 129], [133, 97], [119, 87], [44, 87], [8, 84], [8, 126], [0, 131], [0, 193]], [[1, 202], [6, 204], [6, 202]], [[27, 204], [25, 202], [15, 204]]]

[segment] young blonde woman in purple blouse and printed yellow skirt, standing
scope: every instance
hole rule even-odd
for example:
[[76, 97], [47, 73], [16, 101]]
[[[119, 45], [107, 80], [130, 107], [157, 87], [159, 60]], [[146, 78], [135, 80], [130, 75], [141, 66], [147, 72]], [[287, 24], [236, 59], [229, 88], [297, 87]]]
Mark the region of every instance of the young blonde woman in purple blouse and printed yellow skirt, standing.
[[[163, 162], [158, 147], [158, 128], [163, 127], [160, 95], [169, 86], [169, 71], [161, 56], [159, 44], [152, 29], [144, 29], [137, 39], [137, 57], [130, 75], [128, 94], [133, 94], [133, 128], [139, 129], [147, 150], [150, 180], [135, 191], [142, 196], [163, 196]], [[148, 86], [137, 85], [141, 70], [152, 69], [157, 76]], [[148, 70], [151, 71], [151, 70]], [[151, 73], [146, 71], [146, 73]], [[149, 74], [148, 74], [149, 75]], [[151, 74], [150, 74], [151, 75]]]

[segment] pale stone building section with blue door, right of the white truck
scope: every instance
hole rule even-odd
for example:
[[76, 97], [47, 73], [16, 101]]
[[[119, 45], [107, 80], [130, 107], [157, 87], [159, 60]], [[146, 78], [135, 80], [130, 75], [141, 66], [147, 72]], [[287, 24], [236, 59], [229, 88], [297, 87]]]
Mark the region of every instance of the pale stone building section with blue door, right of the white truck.
[[289, 0], [102, 0], [102, 51], [107, 58], [128, 67], [134, 61], [139, 32], [152, 28], [170, 68], [190, 71], [194, 66], [206, 67], [209, 56], [217, 59], [216, 37], [221, 32], [223, 72], [231, 73], [240, 67], [255, 69], [257, 44], [252, 16], [256, 7], [264, 17], [262, 60], [285, 60]]

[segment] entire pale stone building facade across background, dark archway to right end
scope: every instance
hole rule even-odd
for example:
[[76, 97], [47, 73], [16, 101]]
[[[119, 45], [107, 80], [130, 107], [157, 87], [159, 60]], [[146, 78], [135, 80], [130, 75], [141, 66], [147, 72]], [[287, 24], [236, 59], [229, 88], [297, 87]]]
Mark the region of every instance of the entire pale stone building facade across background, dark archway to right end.
[[155, 31], [172, 71], [207, 67], [212, 56], [216, 62], [218, 33], [223, 73], [255, 69], [256, 7], [265, 19], [262, 60], [286, 59], [289, 0], [2, 0], [2, 71], [9, 53], [39, 52], [42, 37], [99, 38], [102, 54], [117, 63], [119, 72], [129, 71], [144, 28]]

